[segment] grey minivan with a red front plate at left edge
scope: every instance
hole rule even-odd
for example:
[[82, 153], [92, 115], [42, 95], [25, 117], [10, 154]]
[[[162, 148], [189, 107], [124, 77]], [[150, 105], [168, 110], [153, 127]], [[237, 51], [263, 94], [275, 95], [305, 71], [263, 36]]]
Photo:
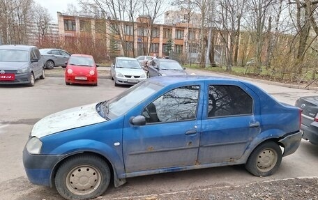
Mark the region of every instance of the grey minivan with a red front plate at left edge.
[[27, 84], [45, 78], [38, 48], [29, 45], [0, 45], [0, 84]]

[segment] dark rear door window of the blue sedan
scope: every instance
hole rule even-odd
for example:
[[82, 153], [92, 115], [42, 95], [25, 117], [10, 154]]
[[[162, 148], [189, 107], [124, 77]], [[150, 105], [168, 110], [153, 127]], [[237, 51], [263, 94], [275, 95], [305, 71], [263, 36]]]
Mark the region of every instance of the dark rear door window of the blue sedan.
[[209, 117], [252, 114], [252, 107], [252, 98], [239, 86], [209, 86]]

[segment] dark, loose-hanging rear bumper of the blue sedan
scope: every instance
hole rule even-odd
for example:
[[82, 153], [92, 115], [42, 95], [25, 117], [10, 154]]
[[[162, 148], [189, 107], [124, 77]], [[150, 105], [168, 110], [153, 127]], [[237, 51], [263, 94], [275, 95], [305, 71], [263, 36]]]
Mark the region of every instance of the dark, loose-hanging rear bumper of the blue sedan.
[[298, 130], [293, 134], [289, 134], [283, 139], [280, 139], [279, 142], [284, 145], [284, 154], [283, 156], [290, 155], [294, 153], [299, 145], [301, 145], [301, 137], [303, 136], [303, 130]]

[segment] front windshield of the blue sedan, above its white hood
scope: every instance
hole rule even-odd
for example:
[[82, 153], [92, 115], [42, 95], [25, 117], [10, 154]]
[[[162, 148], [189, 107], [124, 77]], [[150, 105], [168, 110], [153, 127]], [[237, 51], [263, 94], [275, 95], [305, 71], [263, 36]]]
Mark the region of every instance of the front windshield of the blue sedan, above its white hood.
[[124, 91], [116, 98], [109, 100], [107, 110], [105, 110], [104, 113], [110, 119], [126, 114], [132, 107], [135, 107], [139, 102], [142, 102], [160, 89], [162, 89], [160, 85], [150, 82], [141, 82], [140, 84], [132, 86], [127, 91]]

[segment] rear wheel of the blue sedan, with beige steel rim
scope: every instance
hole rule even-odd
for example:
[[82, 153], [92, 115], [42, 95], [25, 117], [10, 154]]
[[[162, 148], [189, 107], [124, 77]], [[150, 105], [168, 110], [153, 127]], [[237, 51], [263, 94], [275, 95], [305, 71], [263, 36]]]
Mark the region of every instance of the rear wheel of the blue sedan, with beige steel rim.
[[274, 141], [257, 146], [248, 157], [245, 168], [254, 176], [270, 176], [282, 162], [282, 150]]

